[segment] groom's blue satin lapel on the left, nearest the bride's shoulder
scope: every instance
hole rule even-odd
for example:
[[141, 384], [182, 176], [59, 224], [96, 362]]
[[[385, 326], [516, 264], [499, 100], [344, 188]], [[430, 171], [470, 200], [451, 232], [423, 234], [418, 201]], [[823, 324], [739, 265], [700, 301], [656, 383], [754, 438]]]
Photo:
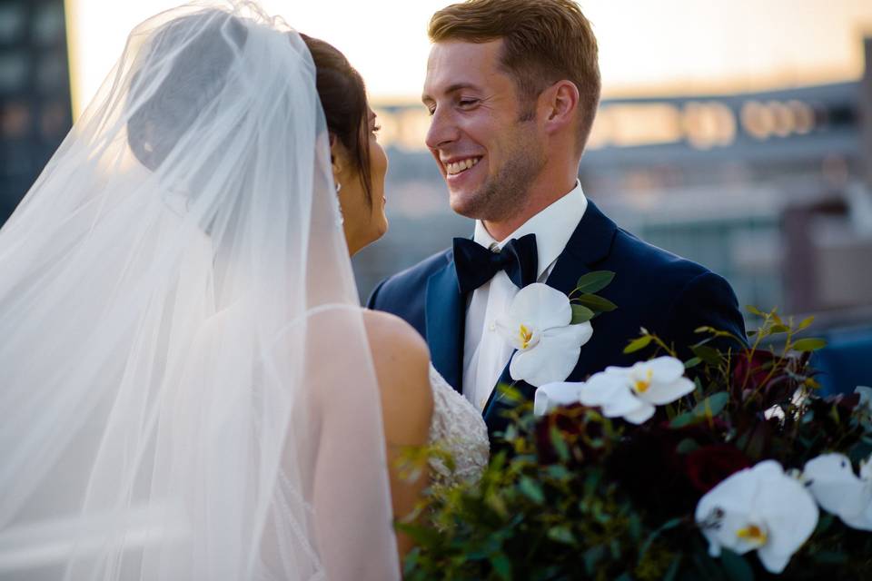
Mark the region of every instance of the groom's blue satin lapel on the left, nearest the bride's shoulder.
[[433, 367], [459, 393], [463, 392], [463, 329], [466, 305], [457, 284], [454, 261], [427, 281], [424, 317]]

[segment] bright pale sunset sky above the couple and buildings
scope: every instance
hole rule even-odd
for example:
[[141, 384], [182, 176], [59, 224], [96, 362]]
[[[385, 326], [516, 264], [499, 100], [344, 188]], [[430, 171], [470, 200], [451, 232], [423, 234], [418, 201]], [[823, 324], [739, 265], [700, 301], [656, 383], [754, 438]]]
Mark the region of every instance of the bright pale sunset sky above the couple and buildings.
[[[66, 0], [77, 114], [134, 25], [180, 0]], [[417, 102], [427, 22], [450, 0], [261, 0], [342, 50], [374, 103]], [[728, 94], [857, 78], [872, 0], [580, 0], [603, 94]]]

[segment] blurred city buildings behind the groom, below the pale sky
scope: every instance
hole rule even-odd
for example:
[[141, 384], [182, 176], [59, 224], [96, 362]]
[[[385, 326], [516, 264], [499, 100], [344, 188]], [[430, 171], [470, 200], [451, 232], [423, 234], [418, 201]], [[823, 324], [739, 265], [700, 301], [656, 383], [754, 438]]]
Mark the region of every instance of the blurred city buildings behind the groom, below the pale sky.
[[[866, 46], [872, 50], [872, 40]], [[581, 183], [620, 226], [722, 274], [744, 303], [790, 311], [872, 306], [864, 245], [872, 240], [870, 75], [872, 66], [858, 82], [605, 100]], [[391, 159], [391, 231], [355, 261], [364, 295], [384, 275], [472, 231], [448, 208], [424, 148], [423, 107], [381, 103], [378, 113]], [[821, 222], [798, 228], [797, 213]], [[812, 262], [819, 276], [808, 270]], [[867, 268], [842, 271], [843, 263]]]

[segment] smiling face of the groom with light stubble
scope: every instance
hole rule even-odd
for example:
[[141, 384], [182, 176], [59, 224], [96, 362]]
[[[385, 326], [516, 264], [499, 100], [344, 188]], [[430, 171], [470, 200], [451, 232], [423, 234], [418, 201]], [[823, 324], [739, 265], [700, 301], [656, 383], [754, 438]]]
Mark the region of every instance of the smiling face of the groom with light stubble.
[[421, 100], [427, 146], [448, 184], [451, 209], [489, 222], [520, 211], [544, 164], [534, 104], [521, 107], [500, 67], [502, 41], [433, 44]]

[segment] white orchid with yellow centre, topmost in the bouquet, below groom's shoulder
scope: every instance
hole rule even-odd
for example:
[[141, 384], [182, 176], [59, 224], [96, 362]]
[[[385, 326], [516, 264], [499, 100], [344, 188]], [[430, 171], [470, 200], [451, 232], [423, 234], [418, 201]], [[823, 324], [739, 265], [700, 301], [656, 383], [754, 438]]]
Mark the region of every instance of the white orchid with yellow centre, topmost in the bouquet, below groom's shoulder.
[[630, 368], [609, 367], [588, 379], [579, 394], [581, 403], [599, 406], [607, 418], [641, 424], [654, 415], [656, 406], [672, 403], [693, 389], [679, 359], [659, 357]]

